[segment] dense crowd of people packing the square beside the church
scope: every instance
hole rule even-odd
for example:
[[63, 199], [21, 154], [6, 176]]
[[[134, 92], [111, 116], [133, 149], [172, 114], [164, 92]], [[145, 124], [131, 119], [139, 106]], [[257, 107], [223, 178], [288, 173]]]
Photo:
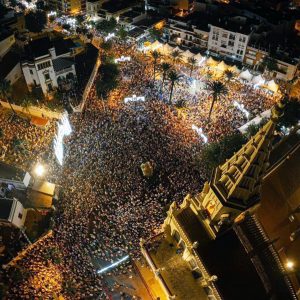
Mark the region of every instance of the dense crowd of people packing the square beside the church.
[[[131, 61], [119, 64], [121, 80], [107, 101], [99, 100], [93, 87], [84, 113], [71, 116], [73, 132], [66, 141], [64, 165], [60, 168], [54, 156], [48, 162], [49, 180], [62, 186], [53, 235], [18, 261], [18, 267], [30, 275], [22, 284], [9, 281], [8, 299], [52, 299], [54, 294], [66, 299], [109, 299], [107, 273], [97, 270], [127, 255], [130, 260], [140, 259], [140, 239], [160, 230], [168, 205], [199, 192], [204, 183], [194, 165], [203, 143], [191, 124], [203, 127], [211, 140], [218, 139], [244, 122], [232, 99], [254, 113], [273, 101], [263, 92], [230, 83], [229, 94], [216, 104], [212, 122], [207, 123], [208, 92], [190, 94], [189, 80], [183, 78], [173, 99], [187, 101], [188, 116], [178, 118], [176, 110], [166, 105], [169, 84], [162, 90], [160, 81], [154, 82], [151, 59], [132, 44], [115, 42], [111, 51], [115, 57], [130, 56]], [[125, 104], [124, 97], [132, 95], [146, 101]], [[140, 168], [145, 162], [153, 166], [150, 178]], [[45, 256], [49, 247], [56, 249], [59, 263]], [[8, 277], [14, 268], [7, 269]], [[126, 273], [131, 268], [128, 261], [126, 268], [107, 272]]]

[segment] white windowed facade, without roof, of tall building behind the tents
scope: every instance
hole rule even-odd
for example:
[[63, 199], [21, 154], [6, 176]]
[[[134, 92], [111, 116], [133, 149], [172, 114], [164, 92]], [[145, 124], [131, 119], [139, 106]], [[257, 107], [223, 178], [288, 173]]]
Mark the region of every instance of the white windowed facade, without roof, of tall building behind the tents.
[[208, 50], [243, 61], [249, 35], [210, 25]]

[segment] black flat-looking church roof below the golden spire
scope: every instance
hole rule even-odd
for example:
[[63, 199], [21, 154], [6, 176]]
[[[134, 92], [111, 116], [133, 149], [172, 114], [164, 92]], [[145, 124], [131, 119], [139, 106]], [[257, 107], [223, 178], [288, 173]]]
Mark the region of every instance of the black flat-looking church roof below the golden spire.
[[211, 240], [190, 208], [184, 209], [177, 220], [189, 239], [199, 242], [196, 253], [209, 274], [218, 277], [215, 284], [224, 299], [269, 299], [235, 231], [231, 229]]

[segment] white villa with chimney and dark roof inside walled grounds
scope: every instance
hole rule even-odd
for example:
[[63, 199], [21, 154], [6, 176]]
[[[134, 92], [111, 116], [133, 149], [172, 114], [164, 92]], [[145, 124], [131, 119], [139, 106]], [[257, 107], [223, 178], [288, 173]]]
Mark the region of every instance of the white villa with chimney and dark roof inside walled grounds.
[[75, 47], [70, 39], [52, 41], [44, 37], [30, 42], [21, 65], [28, 88], [39, 86], [47, 96], [58, 87], [60, 80], [74, 78]]

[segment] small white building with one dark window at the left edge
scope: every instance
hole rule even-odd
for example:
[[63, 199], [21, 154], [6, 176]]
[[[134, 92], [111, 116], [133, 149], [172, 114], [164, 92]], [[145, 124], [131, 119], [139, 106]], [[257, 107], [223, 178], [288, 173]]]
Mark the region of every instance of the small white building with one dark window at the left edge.
[[0, 198], [0, 223], [22, 228], [27, 209], [17, 199]]

